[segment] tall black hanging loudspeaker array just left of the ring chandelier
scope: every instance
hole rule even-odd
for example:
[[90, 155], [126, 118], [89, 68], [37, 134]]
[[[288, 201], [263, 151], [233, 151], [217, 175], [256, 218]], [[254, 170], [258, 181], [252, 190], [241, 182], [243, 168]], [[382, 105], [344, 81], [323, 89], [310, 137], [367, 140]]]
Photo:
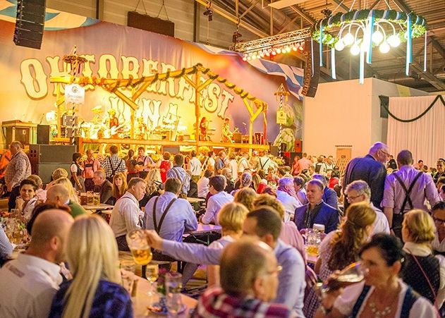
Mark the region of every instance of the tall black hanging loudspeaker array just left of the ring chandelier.
[[[315, 93], [317, 92], [318, 87], [318, 80], [320, 77], [319, 44], [315, 41], [312, 42], [312, 39], [305, 39], [305, 49], [307, 51], [307, 58], [302, 94], [307, 97], [315, 97]], [[314, 58], [313, 61], [312, 56]]]

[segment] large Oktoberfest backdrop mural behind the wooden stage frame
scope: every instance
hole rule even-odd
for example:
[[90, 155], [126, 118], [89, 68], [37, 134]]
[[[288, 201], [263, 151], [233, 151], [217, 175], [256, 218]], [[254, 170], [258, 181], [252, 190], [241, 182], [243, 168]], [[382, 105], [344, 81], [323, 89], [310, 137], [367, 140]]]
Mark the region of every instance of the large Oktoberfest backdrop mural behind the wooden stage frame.
[[[16, 47], [13, 44], [15, 1], [0, 0], [0, 86], [1, 121], [18, 119], [32, 123], [55, 123], [56, 86], [51, 77], [67, 75], [62, 61], [77, 46], [78, 54], [87, 62], [83, 76], [94, 78], [141, 78], [154, 73], [165, 73], [189, 68], [201, 63], [213, 73], [243, 88], [268, 104], [267, 135], [274, 141], [279, 134], [276, 124], [278, 102], [274, 92], [284, 83], [291, 95], [286, 102], [288, 114], [286, 140], [300, 139], [302, 133], [302, 102], [300, 85], [303, 71], [270, 61], [246, 63], [230, 51], [223, 51], [202, 44], [166, 37], [132, 27], [104, 23], [63, 13], [63, 25], [49, 23], [45, 30], [42, 49]], [[51, 15], [49, 15], [51, 13]], [[47, 12], [47, 20], [56, 11]], [[73, 21], [70, 25], [67, 21]], [[205, 78], [202, 78], [202, 82]], [[130, 89], [123, 90], [131, 95]], [[145, 126], [147, 131], [178, 119], [178, 130], [193, 135], [195, 124], [195, 91], [183, 78], [158, 81], [147, 87], [137, 99], [138, 110], [135, 127]], [[116, 111], [122, 129], [130, 121], [130, 107], [114, 94], [92, 85], [85, 86], [85, 104], [79, 109], [80, 122], [85, 122], [85, 133], [92, 137], [95, 129], [109, 117], [109, 110]], [[202, 91], [201, 116], [209, 120], [210, 138], [219, 141], [224, 118], [231, 118], [231, 129], [247, 134], [248, 110], [238, 94], [221, 82], [212, 82]], [[52, 115], [51, 115], [52, 114]], [[96, 127], [96, 128], [95, 128]], [[262, 131], [263, 121], [258, 118], [254, 131]], [[96, 132], [97, 133], [97, 132]], [[289, 142], [291, 145], [291, 142]]]

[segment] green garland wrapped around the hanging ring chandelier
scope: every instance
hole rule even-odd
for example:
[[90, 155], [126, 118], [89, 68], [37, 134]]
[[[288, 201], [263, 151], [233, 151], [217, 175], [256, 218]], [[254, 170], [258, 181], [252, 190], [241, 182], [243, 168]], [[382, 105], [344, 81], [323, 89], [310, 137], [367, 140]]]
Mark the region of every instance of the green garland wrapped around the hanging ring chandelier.
[[[334, 47], [336, 42], [339, 41], [339, 37], [335, 37], [331, 35], [328, 31], [334, 27], [340, 27], [343, 23], [350, 23], [353, 21], [356, 22], [365, 22], [370, 15], [370, 10], [353, 10], [348, 11], [347, 13], [336, 13], [336, 15], [331, 16], [329, 18], [324, 18], [315, 23], [312, 31], [312, 39], [315, 42], [320, 42], [320, 29], [323, 28], [323, 44], [327, 44], [330, 47]], [[412, 21], [412, 37], [421, 37], [426, 31], [427, 20], [422, 16], [418, 16], [417, 14], [398, 12], [396, 10], [374, 10], [374, 20], [377, 23], [379, 20], [384, 19], [388, 20], [392, 23], [401, 23], [405, 24], [406, 20], [410, 16], [410, 20]], [[354, 18], [355, 17], [355, 18]], [[401, 39], [401, 42], [406, 42], [404, 32], [398, 32], [398, 37]]]

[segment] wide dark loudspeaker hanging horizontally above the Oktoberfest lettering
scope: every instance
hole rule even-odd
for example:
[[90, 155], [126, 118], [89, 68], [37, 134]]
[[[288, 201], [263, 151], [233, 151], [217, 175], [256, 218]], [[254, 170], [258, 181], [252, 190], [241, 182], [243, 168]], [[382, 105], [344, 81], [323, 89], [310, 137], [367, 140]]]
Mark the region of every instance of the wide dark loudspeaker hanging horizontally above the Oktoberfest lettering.
[[160, 33], [161, 35], [175, 36], [175, 24], [173, 22], [152, 18], [151, 16], [140, 14], [136, 11], [128, 11], [127, 25], [141, 30]]

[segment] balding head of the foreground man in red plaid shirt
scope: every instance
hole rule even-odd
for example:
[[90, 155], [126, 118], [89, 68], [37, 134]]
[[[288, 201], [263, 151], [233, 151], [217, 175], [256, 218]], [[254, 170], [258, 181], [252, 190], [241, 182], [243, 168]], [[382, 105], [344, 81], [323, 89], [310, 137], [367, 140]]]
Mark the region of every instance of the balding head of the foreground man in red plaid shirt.
[[[255, 281], [276, 269], [276, 258], [272, 249], [260, 240], [240, 238], [224, 249], [219, 266], [221, 287], [226, 293], [260, 296]], [[276, 293], [276, 284], [269, 284], [269, 288], [271, 295], [266, 298]]]

